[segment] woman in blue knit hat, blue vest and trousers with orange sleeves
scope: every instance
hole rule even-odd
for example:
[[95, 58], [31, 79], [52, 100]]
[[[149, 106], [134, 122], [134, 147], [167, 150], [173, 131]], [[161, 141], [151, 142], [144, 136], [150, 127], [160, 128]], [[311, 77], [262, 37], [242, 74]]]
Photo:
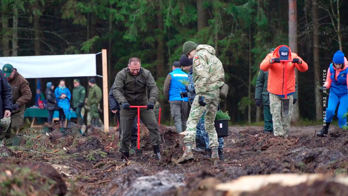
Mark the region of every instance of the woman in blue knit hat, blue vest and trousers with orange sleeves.
[[[335, 115], [335, 110], [339, 106], [337, 111], [337, 117], [339, 118], [339, 126], [345, 126], [347, 123], [347, 116], [343, 117], [347, 113], [348, 109], [348, 61], [345, 54], [342, 51], [337, 51], [334, 55], [333, 61], [329, 66], [327, 80], [324, 84], [324, 90], [331, 88], [329, 95], [328, 107], [326, 108], [326, 122], [324, 118], [324, 126], [321, 131], [317, 133], [317, 136], [324, 137], [329, 132], [329, 126], [332, 118]], [[321, 90], [322, 92], [322, 90]]]

